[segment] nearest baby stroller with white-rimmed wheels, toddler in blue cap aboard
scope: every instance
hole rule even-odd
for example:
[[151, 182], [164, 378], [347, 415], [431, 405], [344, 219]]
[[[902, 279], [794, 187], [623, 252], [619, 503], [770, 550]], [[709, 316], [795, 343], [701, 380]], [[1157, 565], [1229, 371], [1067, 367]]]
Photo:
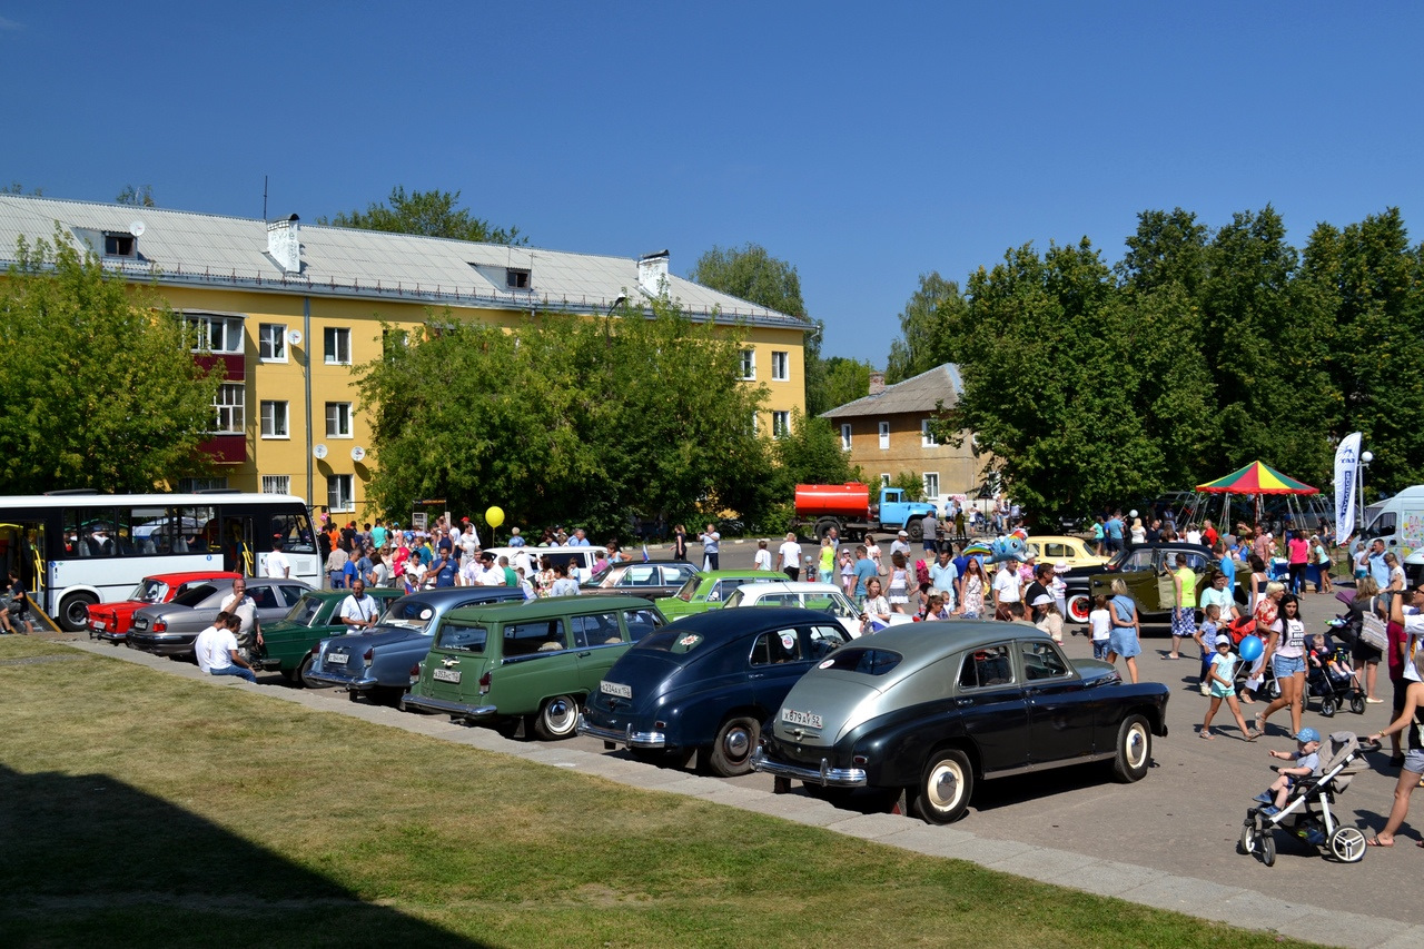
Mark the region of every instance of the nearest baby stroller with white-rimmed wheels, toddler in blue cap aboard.
[[[1378, 750], [1380, 742], [1361, 742], [1353, 731], [1331, 734], [1320, 748], [1320, 777], [1296, 784], [1286, 807], [1277, 814], [1262, 814], [1260, 804], [1247, 808], [1236, 852], [1260, 855], [1262, 864], [1274, 866], [1276, 831], [1283, 829], [1341, 864], [1358, 864], [1366, 851], [1364, 832], [1353, 825], [1341, 825], [1331, 808], [1336, 795], [1344, 794], [1350, 779], [1364, 767], [1364, 755]], [[1272, 771], [1276, 769], [1277, 765], [1272, 765]]]

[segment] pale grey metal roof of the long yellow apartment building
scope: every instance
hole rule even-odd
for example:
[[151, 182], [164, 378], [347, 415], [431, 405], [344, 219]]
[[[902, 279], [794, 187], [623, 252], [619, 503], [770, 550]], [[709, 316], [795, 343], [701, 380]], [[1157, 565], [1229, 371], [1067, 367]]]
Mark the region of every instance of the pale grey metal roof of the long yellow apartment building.
[[[164, 285], [208, 285], [323, 296], [413, 299], [451, 306], [607, 312], [624, 292], [644, 299], [638, 259], [474, 244], [300, 222], [302, 269], [286, 274], [268, 254], [268, 222], [97, 201], [0, 195], [0, 266], [19, 238], [53, 239], [56, 227], [81, 249], [103, 251], [104, 232], [142, 222], [138, 258], [105, 256], [115, 271]], [[137, 228], [135, 228], [137, 229]], [[530, 288], [506, 286], [506, 269], [527, 269]], [[807, 321], [668, 275], [668, 292], [695, 316], [809, 329]]]

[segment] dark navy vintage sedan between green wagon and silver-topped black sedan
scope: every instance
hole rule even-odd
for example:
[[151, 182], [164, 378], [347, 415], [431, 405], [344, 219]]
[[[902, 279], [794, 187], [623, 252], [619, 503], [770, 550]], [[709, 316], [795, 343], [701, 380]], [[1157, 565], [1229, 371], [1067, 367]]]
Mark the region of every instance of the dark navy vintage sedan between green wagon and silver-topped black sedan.
[[725, 778], [746, 774], [762, 722], [796, 680], [847, 640], [836, 618], [815, 610], [686, 617], [608, 670], [578, 732], [651, 761], [684, 764], [701, 751], [702, 769]]

